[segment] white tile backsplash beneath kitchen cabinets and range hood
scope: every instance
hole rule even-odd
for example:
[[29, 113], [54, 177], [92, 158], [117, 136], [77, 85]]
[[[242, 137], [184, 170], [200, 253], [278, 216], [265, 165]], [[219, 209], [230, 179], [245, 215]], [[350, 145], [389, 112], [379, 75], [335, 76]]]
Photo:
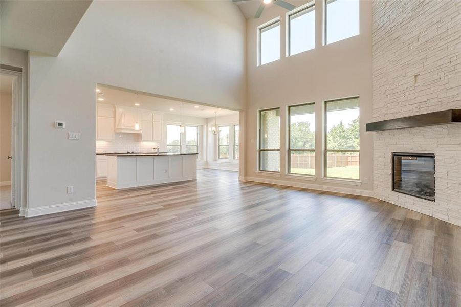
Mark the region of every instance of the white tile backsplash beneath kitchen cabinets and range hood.
[[96, 141], [96, 153], [111, 152], [152, 152], [152, 148], [159, 146], [160, 151], [166, 148], [162, 142], [143, 142], [141, 134], [135, 133], [116, 133], [113, 141]]

